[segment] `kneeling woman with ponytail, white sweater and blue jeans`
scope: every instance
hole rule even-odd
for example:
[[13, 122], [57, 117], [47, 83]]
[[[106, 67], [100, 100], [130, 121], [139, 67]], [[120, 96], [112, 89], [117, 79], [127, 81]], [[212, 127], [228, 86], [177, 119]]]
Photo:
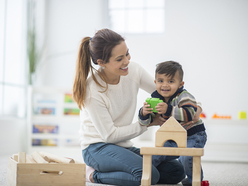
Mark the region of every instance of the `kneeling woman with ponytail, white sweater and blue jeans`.
[[[130, 140], [147, 127], [132, 121], [139, 88], [152, 93], [155, 84], [141, 66], [130, 63], [130, 58], [123, 37], [109, 29], [83, 38], [80, 45], [73, 97], [81, 109], [81, 148], [84, 162], [93, 168], [91, 174], [86, 173], [91, 182], [141, 184], [142, 155]], [[100, 66], [98, 70], [91, 60]], [[157, 117], [151, 125], [162, 123]], [[184, 177], [177, 160], [152, 167], [152, 184], [178, 183]]]

